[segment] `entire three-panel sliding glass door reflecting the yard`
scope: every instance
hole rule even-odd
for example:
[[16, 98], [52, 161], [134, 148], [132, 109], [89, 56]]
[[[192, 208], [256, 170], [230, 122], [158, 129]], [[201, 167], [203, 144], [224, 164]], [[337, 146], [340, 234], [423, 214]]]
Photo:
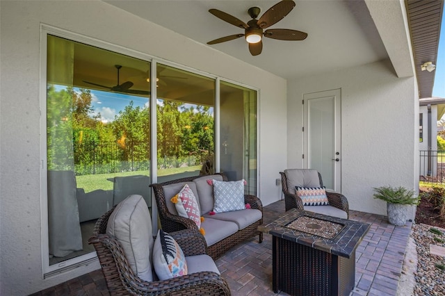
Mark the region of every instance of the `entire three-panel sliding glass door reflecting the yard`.
[[153, 181], [225, 172], [257, 194], [257, 91], [143, 54], [46, 37], [45, 276], [93, 260], [95, 222], [127, 196], [142, 195], [152, 211]]

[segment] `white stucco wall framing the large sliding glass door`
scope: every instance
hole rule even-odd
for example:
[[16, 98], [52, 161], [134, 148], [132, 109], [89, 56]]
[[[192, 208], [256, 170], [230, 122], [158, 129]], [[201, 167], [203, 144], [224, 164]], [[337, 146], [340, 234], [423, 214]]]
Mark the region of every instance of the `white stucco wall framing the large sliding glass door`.
[[[171, 60], [259, 89], [259, 197], [280, 198], [286, 81], [102, 1], [0, 1], [0, 295], [28, 295], [99, 268], [43, 279], [40, 23]], [[44, 92], [44, 91], [43, 91]]]

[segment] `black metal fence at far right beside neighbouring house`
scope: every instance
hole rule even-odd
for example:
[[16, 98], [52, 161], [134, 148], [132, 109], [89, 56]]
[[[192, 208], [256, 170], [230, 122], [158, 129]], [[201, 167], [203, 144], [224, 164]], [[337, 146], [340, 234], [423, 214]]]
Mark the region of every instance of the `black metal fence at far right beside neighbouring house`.
[[420, 150], [420, 181], [445, 183], [445, 151]]

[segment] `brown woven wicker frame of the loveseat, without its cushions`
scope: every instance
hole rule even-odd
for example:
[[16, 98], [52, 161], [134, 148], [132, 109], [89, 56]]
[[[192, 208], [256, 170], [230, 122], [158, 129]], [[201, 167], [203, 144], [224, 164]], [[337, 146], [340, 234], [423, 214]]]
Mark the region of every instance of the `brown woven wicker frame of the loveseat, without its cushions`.
[[[223, 180], [227, 181], [227, 176], [225, 176], [223, 173], [216, 174], [220, 174], [221, 176], [223, 176]], [[196, 231], [198, 231], [195, 222], [186, 217], [173, 215], [172, 213], [170, 213], [170, 211], [168, 211], [167, 205], [165, 204], [165, 194], [163, 186], [173, 183], [192, 182], [194, 179], [200, 177], [202, 176], [191, 176], [176, 179], [173, 181], [167, 181], [164, 183], [154, 183], [150, 185], [154, 189], [154, 197], [158, 206], [158, 217], [161, 221], [162, 229], [164, 231], [167, 231], [168, 233], [179, 231], [182, 229], [195, 229]], [[261, 213], [263, 212], [263, 204], [261, 204], [261, 200], [258, 197], [255, 197], [254, 195], [244, 195], [244, 202], [245, 204], [250, 204], [251, 208], [255, 208], [261, 211]], [[237, 231], [231, 236], [228, 236], [227, 238], [216, 242], [215, 244], [207, 247], [207, 254], [209, 254], [209, 256], [213, 258], [213, 260], [216, 260], [220, 258], [220, 256], [223, 256], [223, 254], [225, 254], [230, 248], [257, 235], [259, 236], [259, 242], [261, 243], [263, 241], [263, 233], [261, 231], [258, 231], [258, 227], [261, 224], [263, 224], [262, 218], [261, 220], [250, 224], [248, 227]]]

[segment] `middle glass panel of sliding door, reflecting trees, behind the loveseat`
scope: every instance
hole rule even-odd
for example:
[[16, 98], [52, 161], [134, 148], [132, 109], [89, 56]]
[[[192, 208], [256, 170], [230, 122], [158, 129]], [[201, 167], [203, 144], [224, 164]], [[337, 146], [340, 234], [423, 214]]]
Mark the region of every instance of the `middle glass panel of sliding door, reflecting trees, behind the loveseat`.
[[213, 174], [215, 79], [156, 65], [158, 183]]

